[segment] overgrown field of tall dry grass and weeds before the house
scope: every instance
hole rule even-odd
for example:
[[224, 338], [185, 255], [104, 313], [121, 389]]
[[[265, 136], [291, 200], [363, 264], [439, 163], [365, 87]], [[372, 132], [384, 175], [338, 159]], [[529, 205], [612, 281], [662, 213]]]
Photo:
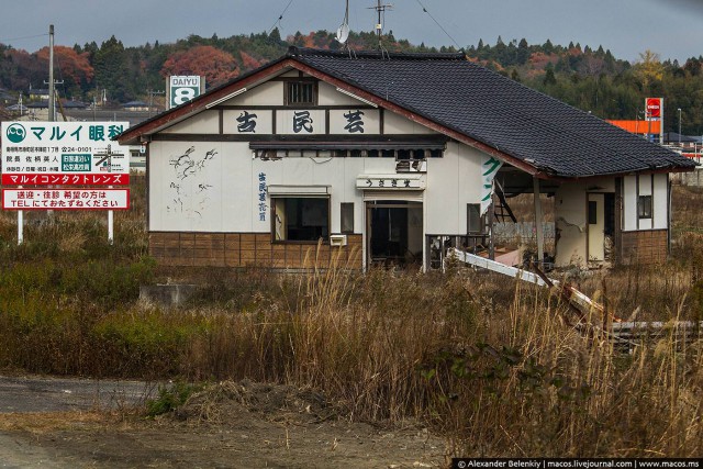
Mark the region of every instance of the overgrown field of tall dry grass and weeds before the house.
[[[639, 306], [638, 319], [700, 320], [698, 197], [676, 188], [666, 266], [571, 280], [622, 317]], [[136, 286], [175, 273], [145, 257], [140, 213], [120, 214], [114, 246], [92, 215], [36, 224], [22, 247], [12, 215], [0, 220], [0, 367], [310, 387], [352, 420], [428, 422], [462, 456], [703, 453], [700, 340], [668, 335], [623, 354], [571, 327], [547, 291], [461, 270], [180, 271], [208, 284], [167, 311], [137, 302]], [[165, 389], [149, 412], [191, 391]]]

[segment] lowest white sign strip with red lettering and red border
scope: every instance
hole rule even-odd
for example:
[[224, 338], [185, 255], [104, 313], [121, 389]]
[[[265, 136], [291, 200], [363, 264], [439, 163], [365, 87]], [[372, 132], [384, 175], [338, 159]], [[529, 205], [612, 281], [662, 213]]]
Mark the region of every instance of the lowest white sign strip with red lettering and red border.
[[127, 210], [130, 189], [3, 189], [4, 210]]

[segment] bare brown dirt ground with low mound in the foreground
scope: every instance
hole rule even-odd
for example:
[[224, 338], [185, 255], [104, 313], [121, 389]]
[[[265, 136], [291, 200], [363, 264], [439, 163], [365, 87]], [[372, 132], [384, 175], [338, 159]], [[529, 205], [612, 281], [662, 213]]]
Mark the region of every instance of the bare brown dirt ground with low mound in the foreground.
[[0, 413], [0, 468], [27, 466], [422, 468], [446, 459], [445, 440], [420, 425], [350, 423], [314, 391], [242, 381], [156, 418], [130, 406]]

